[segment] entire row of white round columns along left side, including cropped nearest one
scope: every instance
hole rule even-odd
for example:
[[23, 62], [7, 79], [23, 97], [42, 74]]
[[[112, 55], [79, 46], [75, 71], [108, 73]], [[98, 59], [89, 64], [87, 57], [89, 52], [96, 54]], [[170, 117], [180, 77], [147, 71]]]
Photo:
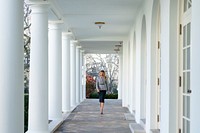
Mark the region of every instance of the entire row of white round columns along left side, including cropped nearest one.
[[[24, 132], [23, 0], [0, 2], [0, 129]], [[47, 2], [31, 4], [28, 133], [49, 133], [85, 99], [84, 51], [61, 22], [49, 22]], [[15, 23], [13, 23], [15, 22]], [[10, 27], [10, 28], [8, 28]], [[10, 124], [10, 123], [14, 124]], [[56, 125], [55, 125], [56, 126]]]

